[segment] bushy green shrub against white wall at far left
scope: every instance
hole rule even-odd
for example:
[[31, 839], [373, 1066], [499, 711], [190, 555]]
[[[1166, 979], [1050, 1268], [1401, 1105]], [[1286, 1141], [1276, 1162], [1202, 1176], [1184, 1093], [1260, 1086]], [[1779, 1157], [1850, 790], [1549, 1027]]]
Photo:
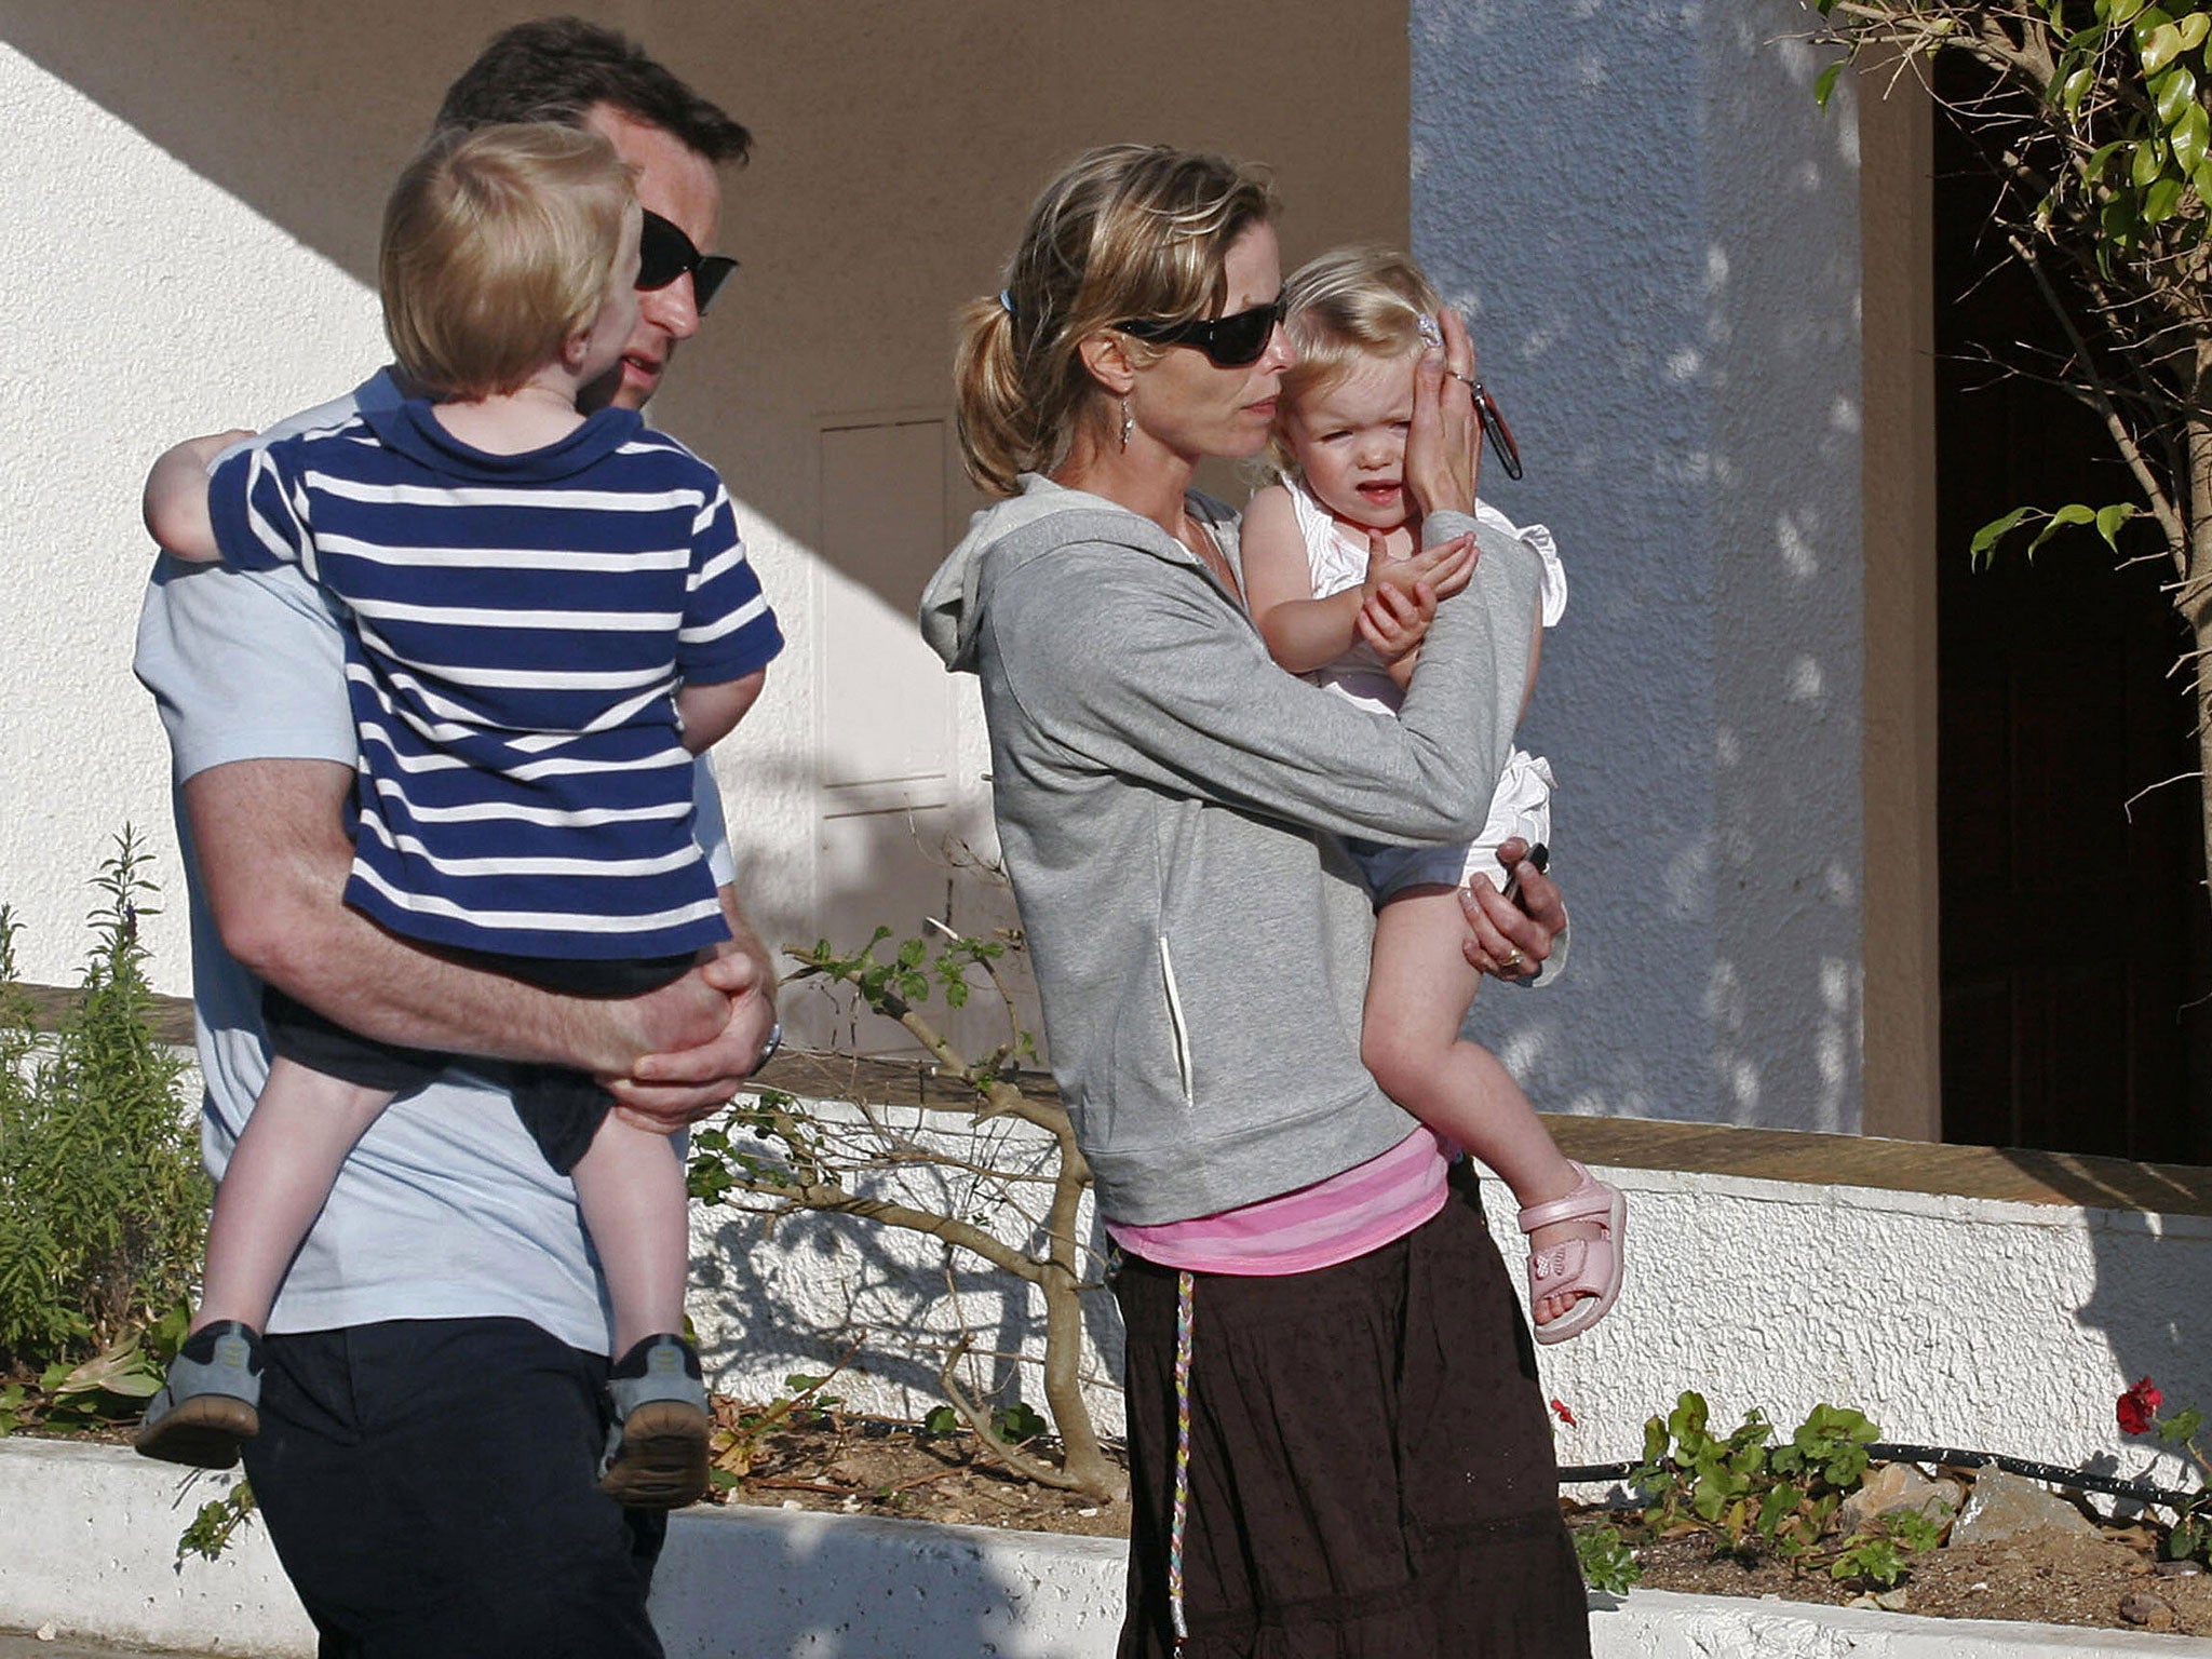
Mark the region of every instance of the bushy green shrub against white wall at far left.
[[40, 1031], [15, 984], [15, 918], [0, 907], [0, 1376], [108, 1352], [188, 1294], [208, 1183], [159, 1040], [139, 902], [146, 852], [126, 827], [93, 878], [80, 998]]

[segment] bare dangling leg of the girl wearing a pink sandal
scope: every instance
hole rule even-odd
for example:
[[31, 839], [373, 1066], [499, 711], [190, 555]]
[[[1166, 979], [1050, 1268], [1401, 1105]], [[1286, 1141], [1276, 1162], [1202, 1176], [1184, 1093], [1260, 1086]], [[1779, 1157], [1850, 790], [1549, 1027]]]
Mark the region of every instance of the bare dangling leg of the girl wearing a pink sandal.
[[[1360, 1060], [1385, 1095], [1493, 1168], [1522, 1208], [1564, 1199], [1577, 1177], [1535, 1106], [1498, 1055], [1460, 1040], [1460, 1022], [1482, 984], [1460, 953], [1464, 933], [1467, 920], [1451, 887], [1409, 887], [1383, 905], [1367, 973]], [[1601, 1232], [1595, 1221], [1559, 1221], [1528, 1234], [1528, 1250], [1535, 1254]], [[1575, 1301], [1544, 1296], [1531, 1316], [1548, 1325]]]

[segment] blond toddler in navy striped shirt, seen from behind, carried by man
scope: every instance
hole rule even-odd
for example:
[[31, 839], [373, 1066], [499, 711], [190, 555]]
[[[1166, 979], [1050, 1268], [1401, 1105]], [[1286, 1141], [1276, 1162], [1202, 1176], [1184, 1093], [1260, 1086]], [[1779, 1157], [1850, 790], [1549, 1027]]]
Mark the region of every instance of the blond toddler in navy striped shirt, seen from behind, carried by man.
[[[170, 553], [296, 562], [345, 608], [347, 902], [573, 995], [666, 984], [730, 936], [692, 838], [692, 757], [783, 646], [714, 469], [635, 411], [575, 407], [637, 325], [644, 234], [597, 135], [436, 139], [400, 175], [378, 261], [385, 332], [427, 396], [241, 449], [212, 476], [239, 434], [197, 438], [146, 480]], [[263, 1013], [270, 1079], [217, 1190], [192, 1336], [137, 1436], [153, 1458], [237, 1462], [259, 1429], [259, 1332], [338, 1166], [394, 1095], [451, 1064], [274, 989]], [[573, 1172], [606, 1270], [619, 1358], [602, 1486], [641, 1509], [690, 1502], [710, 1418], [679, 1336], [681, 1161], [582, 1073], [502, 1077]]]

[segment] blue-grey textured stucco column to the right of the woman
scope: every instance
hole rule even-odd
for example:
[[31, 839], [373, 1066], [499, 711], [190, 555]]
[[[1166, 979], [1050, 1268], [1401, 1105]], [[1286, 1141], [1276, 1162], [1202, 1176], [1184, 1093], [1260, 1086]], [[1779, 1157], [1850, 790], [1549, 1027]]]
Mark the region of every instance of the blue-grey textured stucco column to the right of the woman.
[[1575, 964], [1473, 1029], [1544, 1110], [1860, 1121], [1860, 356], [1849, 88], [1787, 0], [1413, 0], [1413, 252], [1473, 319], [1568, 611]]

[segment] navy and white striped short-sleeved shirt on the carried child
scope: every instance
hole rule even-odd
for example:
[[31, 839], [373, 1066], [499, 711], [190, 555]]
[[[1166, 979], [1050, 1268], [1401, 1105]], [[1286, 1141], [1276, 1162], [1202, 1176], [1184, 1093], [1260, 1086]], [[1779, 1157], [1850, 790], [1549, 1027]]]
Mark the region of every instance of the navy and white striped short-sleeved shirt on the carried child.
[[349, 613], [349, 905], [502, 956], [728, 938], [675, 690], [783, 635], [712, 467], [628, 409], [491, 456], [414, 400], [230, 456], [208, 502], [228, 562], [299, 562]]

